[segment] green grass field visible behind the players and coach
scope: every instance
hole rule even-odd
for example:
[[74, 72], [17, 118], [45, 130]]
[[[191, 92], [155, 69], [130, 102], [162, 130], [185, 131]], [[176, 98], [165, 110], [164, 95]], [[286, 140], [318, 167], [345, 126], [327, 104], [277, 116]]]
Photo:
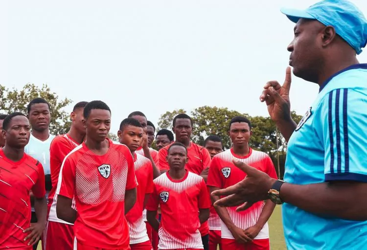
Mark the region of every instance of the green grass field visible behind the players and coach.
[[[270, 249], [271, 250], [286, 250], [283, 225], [281, 219], [281, 206], [276, 206], [272, 217], [269, 220], [270, 230]], [[41, 250], [41, 244], [37, 250]]]

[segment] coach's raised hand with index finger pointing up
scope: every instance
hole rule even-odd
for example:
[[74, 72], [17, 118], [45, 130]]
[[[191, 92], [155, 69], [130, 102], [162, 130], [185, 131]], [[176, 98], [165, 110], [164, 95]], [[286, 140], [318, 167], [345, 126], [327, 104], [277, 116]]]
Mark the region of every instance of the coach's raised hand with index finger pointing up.
[[289, 101], [291, 82], [291, 67], [287, 67], [283, 85], [281, 86], [277, 81], [267, 82], [260, 95], [260, 102], [266, 102], [269, 115], [275, 122], [289, 120], [291, 117], [291, 103]]

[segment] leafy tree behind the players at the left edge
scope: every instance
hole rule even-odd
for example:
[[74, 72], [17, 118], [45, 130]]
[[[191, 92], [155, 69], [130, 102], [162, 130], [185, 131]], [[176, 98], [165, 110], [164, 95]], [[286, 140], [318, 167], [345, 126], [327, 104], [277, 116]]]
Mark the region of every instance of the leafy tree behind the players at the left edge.
[[59, 100], [58, 95], [55, 92], [51, 92], [47, 84], [39, 87], [33, 83], [27, 83], [21, 90], [16, 88], [9, 90], [5, 86], [0, 85], [0, 111], [6, 114], [13, 112], [27, 114], [27, 105], [32, 99], [37, 97], [44, 98], [50, 104], [51, 133], [66, 133], [70, 127], [70, 120], [69, 114], [65, 112], [64, 108], [71, 103], [71, 100], [68, 98]]

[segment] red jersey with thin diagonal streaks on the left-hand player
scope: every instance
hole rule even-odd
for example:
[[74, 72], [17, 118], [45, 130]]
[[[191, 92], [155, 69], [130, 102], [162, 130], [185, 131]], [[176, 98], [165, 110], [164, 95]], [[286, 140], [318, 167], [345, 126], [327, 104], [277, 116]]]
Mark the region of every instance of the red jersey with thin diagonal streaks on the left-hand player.
[[36, 198], [46, 194], [42, 164], [26, 153], [18, 162], [8, 159], [0, 149], [0, 249], [31, 250], [23, 230], [30, 227], [29, 191]]

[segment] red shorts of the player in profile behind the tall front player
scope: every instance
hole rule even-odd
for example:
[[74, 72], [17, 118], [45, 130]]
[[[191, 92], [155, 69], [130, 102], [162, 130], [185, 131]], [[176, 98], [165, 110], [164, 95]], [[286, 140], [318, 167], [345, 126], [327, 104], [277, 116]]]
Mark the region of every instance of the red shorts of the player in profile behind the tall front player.
[[74, 229], [73, 225], [47, 221], [42, 238], [42, 250], [73, 250]]

